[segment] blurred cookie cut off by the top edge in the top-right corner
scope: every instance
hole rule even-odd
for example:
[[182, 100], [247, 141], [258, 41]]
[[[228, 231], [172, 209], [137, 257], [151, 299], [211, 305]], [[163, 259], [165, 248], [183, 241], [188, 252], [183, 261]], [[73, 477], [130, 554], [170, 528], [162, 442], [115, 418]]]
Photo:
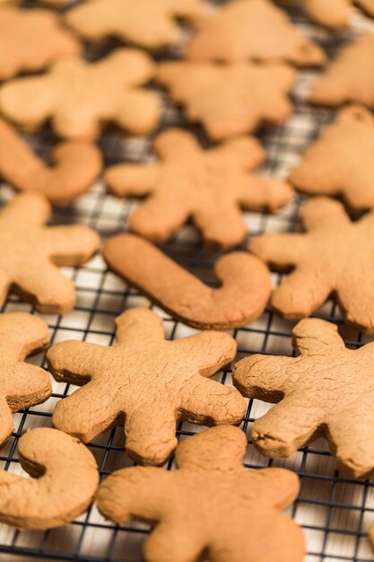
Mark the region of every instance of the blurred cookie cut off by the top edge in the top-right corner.
[[302, 5], [314, 22], [330, 30], [346, 27], [355, 4], [368, 15], [374, 16], [374, 0], [278, 0], [280, 4]]

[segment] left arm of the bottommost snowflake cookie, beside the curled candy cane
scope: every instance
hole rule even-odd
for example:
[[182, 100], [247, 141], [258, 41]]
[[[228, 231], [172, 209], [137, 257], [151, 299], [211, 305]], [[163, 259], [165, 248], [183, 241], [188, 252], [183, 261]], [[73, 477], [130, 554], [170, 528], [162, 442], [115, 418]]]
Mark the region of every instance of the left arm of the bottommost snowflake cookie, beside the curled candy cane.
[[96, 504], [109, 521], [158, 521], [170, 495], [170, 472], [134, 467], [113, 472], [99, 487]]

